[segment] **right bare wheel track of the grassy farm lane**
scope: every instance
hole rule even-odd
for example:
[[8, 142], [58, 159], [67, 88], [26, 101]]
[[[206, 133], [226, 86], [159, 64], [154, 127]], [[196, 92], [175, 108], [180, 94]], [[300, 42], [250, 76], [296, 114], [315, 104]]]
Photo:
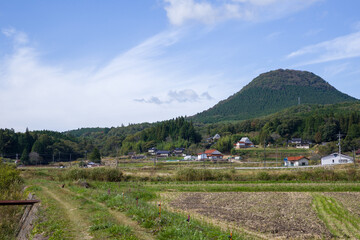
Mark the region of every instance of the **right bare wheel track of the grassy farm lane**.
[[[87, 199], [87, 198], [85, 198], [84, 196], [82, 196], [80, 194], [77, 194], [77, 193], [74, 193], [74, 192], [70, 191], [69, 189], [62, 189], [62, 190], [68, 192], [69, 194], [76, 195], [76, 196], [81, 196], [84, 199]], [[87, 200], [93, 201], [93, 200], [90, 200], [90, 199], [87, 199]], [[97, 201], [95, 201], [95, 202], [97, 204], [99, 204], [100, 206], [108, 209], [109, 213], [117, 220], [117, 222], [119, 224], [130, 227], [132, 229], [134, 235], [138, 239], [143, 239], [143, 240], [153, 240], [153, 239], [155, 239], [154, 236], [151, 233], [148, 233], [145, 228], [141, 227], [136, 221], [132, 220], [131, 218], [126, 216], [124, 213], [112, 210], [112, 209], [108, 208], [104, 203], [97, 202]]]

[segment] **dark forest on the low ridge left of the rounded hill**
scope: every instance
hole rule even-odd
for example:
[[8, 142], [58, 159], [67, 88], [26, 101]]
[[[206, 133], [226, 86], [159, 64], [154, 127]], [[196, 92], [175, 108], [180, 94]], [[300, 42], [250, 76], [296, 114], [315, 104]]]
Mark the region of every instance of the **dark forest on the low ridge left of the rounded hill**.
[[[184, 117], [154, 124], [129, 124], [119, 128], [85, 128], [64, 133], [17, 133], [0, 129], [0, 154], [24, 164], [47, 164], [87, 158], [100, 150], [103, 156], [147, 152], [150, 147], [171, 150], [201, 141], [194, 125]], [[89, 154], [89, 156], [87, 156]]]

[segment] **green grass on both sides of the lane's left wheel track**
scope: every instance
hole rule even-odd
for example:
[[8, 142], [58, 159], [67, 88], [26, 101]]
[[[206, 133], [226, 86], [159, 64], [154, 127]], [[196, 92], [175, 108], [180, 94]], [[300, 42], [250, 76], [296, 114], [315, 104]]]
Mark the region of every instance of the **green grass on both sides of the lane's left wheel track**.
[[[48, 188], [54, 188], [60, 185], [59, 183], [54, 185], [47, 181], [40, 182]], [[42, 233], [44, 236], [49, 236], [49, 239], [53, 240], [76, 239], [72, 232], [85, 230], [76, 229], [77, 226], [70, 225], [70, 221], [64, 217], [64, 210], [59, 208], [59, 203], [45, 194], [41, 187], [33, 186], [29, 188], [29, 191], [39, 195], [43, 206], [40, 208], [40, 219], [36, 223], [32, 235]], [[59, 191], [61, 191], [60, 188], [58, 192]], [[89, 230], [95, 239], [137, 239], [131, 228], [118, 224], [106, 207], [72, 192], [64, 191], [60, 194], [62, 194], [67, 201], [72, 202], [74, 206], [79, 206], [78, 211], [81, 213], [83, 219], [89, 220], [91, 224]]]

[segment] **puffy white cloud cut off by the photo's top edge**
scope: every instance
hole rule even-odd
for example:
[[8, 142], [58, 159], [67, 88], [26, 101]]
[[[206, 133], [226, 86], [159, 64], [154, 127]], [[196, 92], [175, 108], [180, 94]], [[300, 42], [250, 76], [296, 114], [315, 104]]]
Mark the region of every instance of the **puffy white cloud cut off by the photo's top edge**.
[[173, 25], [189, 21], [216, 24], [228, 19], [266, 21], [300, 11], [320, 0], [223, 0], [218, 3], [196, 0], [164, 0]]

